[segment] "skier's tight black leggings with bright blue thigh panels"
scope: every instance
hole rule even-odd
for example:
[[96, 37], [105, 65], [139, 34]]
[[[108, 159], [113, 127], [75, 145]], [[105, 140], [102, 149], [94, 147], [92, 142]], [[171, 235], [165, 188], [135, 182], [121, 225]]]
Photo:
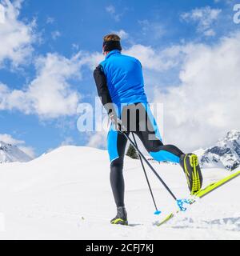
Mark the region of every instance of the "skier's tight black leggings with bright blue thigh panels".
[[[136, 104], [135, 104], [136, 105]], [[134, 106], [135, 106], [134, 105]], [[148, 153], [158, 162], [161, 161], [170, 161], [179, 163], [180, 157], [183, 154], [182, 150], [179, 150], [178, 147], [173, 145], [163, 145], [162, 140], [158, 138], [158, 128], [153, 126], [146, 125], [151, 123], [149, 112], [146, 112], [146, 116], [144, 118], [141, 117], [141, 114], [136, 114], [134, 120], [136, 120], [136, 126], [134, 126], [134, 130], [130, 129], [130, 109], [131, 106], [123, 109], [122, 111], [122, 121], [124, 119], [123, 114], [126, 113], [127, 122], [123, 122], [127, 127], [127, 134], [133, 132], [140, 138], [142, 144], [145, 146]], [[144, 107], [143, 105], [140, 106]], [[141, 126], [145, 125], [146, 129], [142, 129]], [[117, 134], [114, 134], [117, 133]], [[126, 150], [127, 139], [123, 134], [118, 133], [117, 131], [110, 130], [109, 134], [109, 148], [108, 150], [113, 150], [110, 146], [114, 145], [114, 151], [118, 153], [117, 158], [112, 159], [110, 164], [110, 183], [114, 194], [114, 200], [117, 206], [125, 206], [124, 204], [124, 178], [122, 174], [123, 170], [123, 162]], [[113, 142], [111, 142], [112, 140]], [[111, 152], [110, 152], [111, 153]]]

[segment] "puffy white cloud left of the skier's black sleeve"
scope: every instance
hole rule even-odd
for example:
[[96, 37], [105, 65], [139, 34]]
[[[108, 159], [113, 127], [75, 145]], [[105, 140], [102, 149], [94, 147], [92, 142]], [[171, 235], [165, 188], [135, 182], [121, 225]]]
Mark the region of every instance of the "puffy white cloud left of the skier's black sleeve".
[[71, 59], [58, 54], [38, 58], [38, 77], [31, 82], [27, 91], [34, 112], [50, 118], [75, 114], [79, 95], [76, 90], [70, 89], [67, 81], [80, 74], [78, 61], [78, 55]]

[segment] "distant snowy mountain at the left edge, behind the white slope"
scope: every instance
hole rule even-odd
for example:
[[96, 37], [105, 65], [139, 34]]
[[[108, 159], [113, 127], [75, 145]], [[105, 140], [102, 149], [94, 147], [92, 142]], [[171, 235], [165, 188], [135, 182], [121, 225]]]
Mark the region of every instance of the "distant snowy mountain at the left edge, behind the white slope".
[[2, 162], [28, 162], [32, 160], [29, 155], [18, 148], [5, 142], [0, 142], [0, 163]]

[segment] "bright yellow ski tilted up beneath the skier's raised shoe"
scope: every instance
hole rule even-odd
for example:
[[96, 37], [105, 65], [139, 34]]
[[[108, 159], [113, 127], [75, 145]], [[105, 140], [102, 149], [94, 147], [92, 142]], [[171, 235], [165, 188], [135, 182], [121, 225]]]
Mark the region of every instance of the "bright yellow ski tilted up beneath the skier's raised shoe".
[[[194, 194], [194, 197], [203, 198], [204, 196], [206, 196], [206, 194], [209, 194], [210, 192], [218, 189], [219, 187], [226, 184], [227, 182], [230, 182], [232, 179], [237, 178], [239, 175], [240, 175], [240, 171], [237, 171], [234, 174], [227, 176], [226, 178], [222, 178], [220, 181], [214, 182], [214, 183], [210, 184], [209, 186], [206, 186], [204, 189], [199, 190], [198, 193]], [[190, 199], [190, 204], [193, 204], [194, 202], [196, 202], [196, 200]], [[180, 212], [180, 210], [177, 210], [175, 213], [171, 213], [171, 214], [167, 215], [166, 218], [164, 218], [161, 222], [157, 222], [155, 225], [162, 226], [163, 224], [168, 222], [171, 218], [174, 218], [174, 216], [176, 214], [178, 214], [179, 212]]]

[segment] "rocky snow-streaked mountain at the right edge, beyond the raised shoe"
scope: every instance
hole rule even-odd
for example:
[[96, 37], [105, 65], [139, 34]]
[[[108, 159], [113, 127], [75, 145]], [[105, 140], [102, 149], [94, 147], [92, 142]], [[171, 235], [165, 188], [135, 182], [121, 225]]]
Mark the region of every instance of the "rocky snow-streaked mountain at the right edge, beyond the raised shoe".
[[198, 150], [203, 167], [222, 167], [234, 170], [240, 166], [240, 130], [231, 130], [215, 146]]

